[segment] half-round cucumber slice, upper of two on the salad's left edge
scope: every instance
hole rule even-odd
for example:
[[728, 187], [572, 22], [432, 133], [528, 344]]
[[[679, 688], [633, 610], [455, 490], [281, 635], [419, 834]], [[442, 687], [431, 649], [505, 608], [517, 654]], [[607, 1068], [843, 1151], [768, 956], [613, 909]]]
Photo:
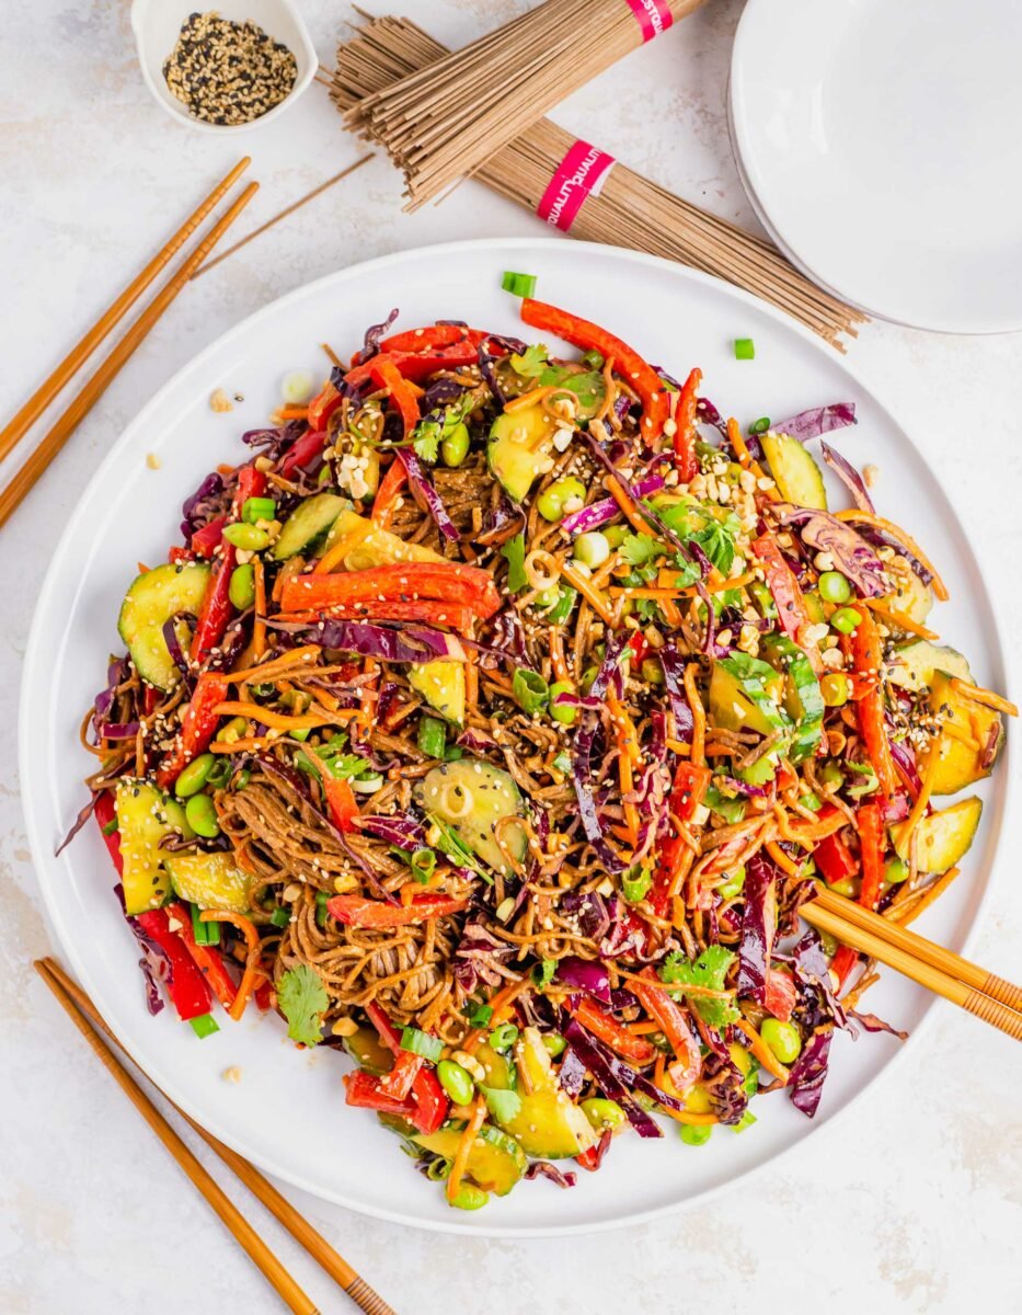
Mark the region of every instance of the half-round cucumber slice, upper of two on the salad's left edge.
[[[131, 583], [121, 604], [117, 630], [127, 644], [135, 671], [156, 689], [173, 689], [181, 679], [177, 664], [167, 650], [163, 626], [177, 611], [202, 610], [210, 568], [204, 562], [154, 567]], [[188, 648], [188, 627], [181, 622], [177, 638]]]

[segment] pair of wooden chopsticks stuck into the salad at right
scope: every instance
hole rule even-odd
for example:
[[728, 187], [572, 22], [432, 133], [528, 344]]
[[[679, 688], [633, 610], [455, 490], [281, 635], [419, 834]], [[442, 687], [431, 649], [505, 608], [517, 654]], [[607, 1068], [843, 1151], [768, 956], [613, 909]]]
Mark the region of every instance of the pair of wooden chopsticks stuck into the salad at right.
[[878, 959], [1022, 1041], [1022, 986], [822, 886], [799, 913], [818, 931], [837, 936], [851, 949]]

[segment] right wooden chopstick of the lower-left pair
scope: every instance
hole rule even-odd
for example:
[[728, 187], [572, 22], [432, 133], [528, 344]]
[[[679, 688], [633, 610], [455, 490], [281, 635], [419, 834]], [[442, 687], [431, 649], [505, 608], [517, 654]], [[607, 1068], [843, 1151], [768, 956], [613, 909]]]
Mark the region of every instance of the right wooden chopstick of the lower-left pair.
[[[106, 1026], [101, 1014], [92, 1003], [85, 992], [72, 981], [71, 977], [60, 968], [58, 963], [53, 959], [42, 959], [35, 965], [37, 970], [46, 977], [47, 985], [50, 981], [55, 981], [58, 986], [71, 998], [74, 1005], [85, 1014], [89, 1020], [100, 1028], [118, 1049], [123, 1051], [121, 1043]], [[206, 1145], [214, 1151], [219, 1159], [231, 1169], [248, 1187], [248, 1190], [259, 1198], [259, 1201], [271, 1211], [271, 1214], [288, 1230], [288, 1232], [300, 1243], [309, 1255], [315, 1260], [315, 1262], [326, 1270], [327, 1274], [351, 1297], [356, 1306], [367, 1312], [367, 1315], [394, 1315], [390, 1306], [376, 1293], [359, 1273], [352, 1269], [352, 1266], [344, 1260], [343, 1256], [338, 1255], [336, 1251], [330, 1245], [330, 1243], [323, 1237], [322, 1233], [317, 1232], [315, 1228], [305, 1219], [298, 1211], [292, 1206], [292, 1203], [281, 1195], [280, 1191], [267, 1180], [263, 1174], [255, 1169], [243, 1156], [231, 1151], [222, 1141], [217, 1140], [211, 1132], [206, 1132], [204, 1127], [189, 1118], [179, 1106], [173, 1105], [173, 1101], [168, 1103], [181, 1115], [181, 1118], [193, 1128], [198, 1136], [206, 1143]]]

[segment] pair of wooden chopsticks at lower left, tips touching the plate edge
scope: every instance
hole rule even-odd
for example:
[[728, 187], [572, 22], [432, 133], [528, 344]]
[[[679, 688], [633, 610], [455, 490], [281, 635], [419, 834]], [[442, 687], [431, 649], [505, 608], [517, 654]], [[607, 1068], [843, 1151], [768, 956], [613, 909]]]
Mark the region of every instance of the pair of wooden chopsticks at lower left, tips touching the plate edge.
[[[118, 1049], [122, 1049], [121, 1043], [102, 1020], [99, 1010], [85, 992], [53, 959], [37, 960], [35, 970], [64, 1007], [71, 1022], [89, 1043], [121, 1090], [127, 1095], [196, 1187], [198, 1187], [210, 1207], [219, 1215], [235, 1240], [247, 1252], [250, 1260], [276, 1289], [288, 1308], [294, 1311], [294, 1315], [319, 1315], [319, 1308], [313, 1299], [302, 1291], [215, 1178], [202, 1168], [138, 1082], [120, 1063], [113, 1051], [101, 1040], [100, 1032], [117, 1045]], [[171, 1103], [173, 1105], [173, 1102]], [[176, 1105], [173, 1109], [202, 1137], [206, 1145], [211, 1151], [215, 1151], [227, 1168], [261, 1201], [267, 1210], [284, 1224], [292, 1237], [305, 1247], [313, 1260], [343, 1287], [356, 1306], [365, 1311], [367, 1315], [394, 1315], [394, 1311], [384, 1298], [359, 1277], [351, 1265], [334, 1251], [326, 1237], [318, 1233], [257, 1169], [254, 1169], [247, 1160], [235, 1155], [222, 1141], [218, 1141], [189, 1119]]]

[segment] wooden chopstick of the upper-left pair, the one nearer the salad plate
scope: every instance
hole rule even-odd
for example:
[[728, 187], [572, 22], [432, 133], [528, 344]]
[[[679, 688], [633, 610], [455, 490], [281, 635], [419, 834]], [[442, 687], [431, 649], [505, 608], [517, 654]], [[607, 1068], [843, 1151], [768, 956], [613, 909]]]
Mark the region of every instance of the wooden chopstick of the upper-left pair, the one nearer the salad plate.
[[32, 456], [29, 456], [17, 475], [14, 475], [3, 493], [0, 493], [0, 526], [7, 523], [25, 494], [33, 488], [75, 429], [88, 416], [125, 362], [137, 351], [167, 306], [185, 287], [194, 271], [202, 264], [213, 247], [252, 200], [257, 189], [257, 183], [250, 183], [230, 209], [213, 225], [192, 254], [181, 262], [173, 276], [160, 288], [123, 337], [118, 339], [100, 368], [83, 385], [46, 438], [43, 438]]

